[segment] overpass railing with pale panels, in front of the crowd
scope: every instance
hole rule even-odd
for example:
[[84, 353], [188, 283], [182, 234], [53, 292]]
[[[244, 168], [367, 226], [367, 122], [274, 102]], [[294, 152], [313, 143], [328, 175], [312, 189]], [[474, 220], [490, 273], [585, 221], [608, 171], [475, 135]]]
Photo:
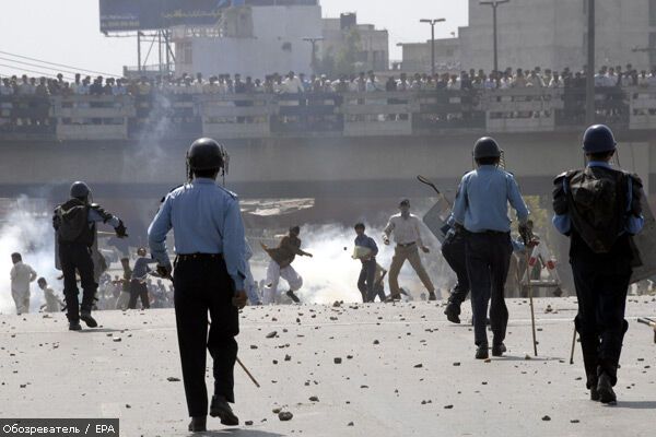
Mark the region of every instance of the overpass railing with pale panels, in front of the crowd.
[[[656, 129], [656, 90], [598, 88], [596, 119]], [[581, 129], [579, 88], [311, 94], [0, 96], [0, 139], [162, 140], [208, 135], [425, 135]]]

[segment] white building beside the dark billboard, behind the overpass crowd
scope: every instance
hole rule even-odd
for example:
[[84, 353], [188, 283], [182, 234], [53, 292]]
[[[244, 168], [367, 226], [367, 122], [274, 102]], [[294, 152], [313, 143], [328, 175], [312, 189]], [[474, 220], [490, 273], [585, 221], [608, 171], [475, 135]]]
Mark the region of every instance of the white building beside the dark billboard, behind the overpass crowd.
[[174, 28], [176, 72], [254, 78], [290, 70], [309, 73], [312, 46], [303, 38], [320, 34], [321, 8], [312, 0], [283, 3], [230, 8], [212, 28]]

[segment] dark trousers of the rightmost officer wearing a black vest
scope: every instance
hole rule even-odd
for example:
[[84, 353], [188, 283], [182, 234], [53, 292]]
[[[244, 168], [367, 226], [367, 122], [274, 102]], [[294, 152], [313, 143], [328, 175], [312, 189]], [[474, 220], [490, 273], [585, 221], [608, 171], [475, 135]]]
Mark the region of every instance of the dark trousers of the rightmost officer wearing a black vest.
[[625, 256], [594, 255], [572, 250], [570, 263], [578, 299], [576, 330], [588, 388], [606, 373], [617, 383], [622, 341], [629, 324], [624, 320], [631, 267]]

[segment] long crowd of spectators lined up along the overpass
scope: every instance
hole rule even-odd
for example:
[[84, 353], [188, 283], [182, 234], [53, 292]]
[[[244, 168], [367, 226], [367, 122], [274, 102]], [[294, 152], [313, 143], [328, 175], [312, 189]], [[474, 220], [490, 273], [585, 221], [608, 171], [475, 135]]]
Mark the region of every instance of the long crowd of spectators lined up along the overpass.
[[[219, 74], [204, 78], [201, 73], [191, 75], [183, 73], [142, 75], [139, 78], [104, 78], [75, 74], [74, 80], [67, 81], [60, 73], [54, 78], [22, 76], [0, 78], [0, 129], [14, 127], [49, 127], [52, 98], [56, 96], [132, 96], [149, 99], [152, 96], [175, 96], [177, 99], [189, 99], [196, 95], [231, 96], [231, 95], [278, 95], [289, 98], [294, 95], [341, 95], [344, 93], [376, 92], [457, 92], [464, 96], [462, 111], [471, 111], [475, 96], [483, 92], [511, 88], [563, 88], [573, 96], [567, 110], [575, 115], [582, 113], [583, 93], [586, 85], [586, 72], [565, 68], [562, 71], [542, 69], [507, 68], [503, 71], [485, 72], [484, 70], [460, 71], [459, 73], [441, 72], [436, 74], [405, 72], [387, 72], [376, 74], [373, 71], [358, 74], [342, 74], [338, 78], [326, 75], [273, 73], [263, 79], [253, 79], [241, 74]], [[628, 114], [622, 105], [621, 92], [624, 90], [656, 90], [656, 66], [651, 71], [637, 71], [633, 66], [624, 68], [602, 67], [595, 74], [595, 87], [610, 103], [609, 109], [601, 109], [606, 115]], [[284, 97], [288, 96], [288, 97]], [[471, 98], [470, 98], [471, 97]], [[315, 99], [316, 101], [316, 99]], [[576, 102], [574, 102], [576, 101]], [[581, 101], [581, 102], [579, 102]], [[294, 99], [289, 101], [294, 104]], [[320, 99], [318, 102], [321, 102]], [[340, 97], [335, 99], [339, 105]], [[398, 99], [383, 101], [388, 104], [400, 103]], [[364, 101], [358, 101], [362, 104]], [[313, 99], [298, 99], [300, 105], [316, 105]], [[89, 107], [95, 104], [78, 103], [74, 106]], [[250, 106], [251, 103], [241, 103]], [[235, 104], [235, 106], [239, 106]], [[538, 115], [538, 113], [531, 113]], [[511, 117], [514, 116], [511, 114]], [[571, 118], [571, 117], [569, 117]], [[79, 120], [80, 121], [80, 120]], [[87, 120], [92, 122], [91, 120]], [[83, 122], [85, 123], [85, 122]]]

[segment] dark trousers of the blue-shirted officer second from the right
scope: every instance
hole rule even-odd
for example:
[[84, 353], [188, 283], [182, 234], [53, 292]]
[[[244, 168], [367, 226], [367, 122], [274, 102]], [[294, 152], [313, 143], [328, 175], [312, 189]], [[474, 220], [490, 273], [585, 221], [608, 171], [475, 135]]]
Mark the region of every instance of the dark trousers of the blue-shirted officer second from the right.
[[471, 285], [471, 309], [476, 345], [488, 344], [485, 318], [490, 304], [490, 326], [493, 344], [505, 339], [508, 309], [504, 299], [504, 286], [511, 265], [513, 245], [511, 234], [468, 233], [467, 274]]

